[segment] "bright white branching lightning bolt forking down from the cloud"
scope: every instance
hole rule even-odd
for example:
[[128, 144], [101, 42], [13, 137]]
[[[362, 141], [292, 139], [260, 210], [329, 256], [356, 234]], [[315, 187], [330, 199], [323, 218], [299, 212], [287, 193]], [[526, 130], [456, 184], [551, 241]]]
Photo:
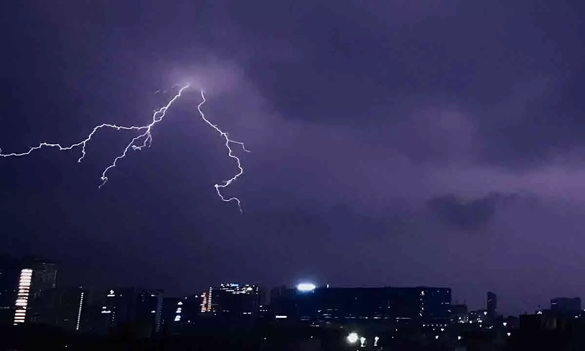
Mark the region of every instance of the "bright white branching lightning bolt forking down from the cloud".
[[[102, 183], [99, 185], [99, 188], [101, 188], [102, 186], [104, 186], [104, 184], [108, 181], [108, 177], [107, 177], [107, 173], [109, 170], [111, 170], [112, 168], [115, 168], [116, 166], [118, 166], [118, 161], [123, 159], [124, 157], [126, 157], [126, 154], [128, 154], [128, 151], [130, 149], [132, 150], [142, 150], [144, 149], [144, 147], [150, 147], [152, 145], [152, 129], [154, 128], [154, 126], [159, 123], [160, 121], [163, 120], [164, 116], [167, 113], [168, 108], [170, 108], [171, 105], [173, 105], [173, 102], [175, 102], [178, 98], [181, 97], [181, 94], [183, 93], [183, 91], [185, 89], [187, 89], [189, 87], [189, 85], [185, 85], [184, 87], [182, 87], [177, 94], [170, 99], [170, 101], [167, 102], [166, 105], [164, 105], [163, 107], [161, 107], [160, 109], [154, 111], [153, 116], [152, 116], [152, 122], [150, 122], [147, 125], [144, 126], [118, 126], [118, 125], [113, 125], [113, 124], [108, 124], [108, 123], [102, 123], [101, 125], [95, 126], [95, 128], [91, 131], [90, 134], [88, 134], [88, 136], [84, 139], [81, 140], [81, 142], [75, 143], [75, 144], [71, 144], [69, 146], [62, 146], [59, 143], [47, 143], [47, 142], [42, 142], [39, 145], [35, 146], [35, 147], [29, 147], [29, 150], [27, 152], [23, 152], [23, 153], [7, 153], [7, 154], [3, 154], [2, 153], [2, 149], [0, 149], [0, 156], [2, 157], [18, 157], [18, 156], [26, 156], [30, 153], [32, 153], [35, 150], [39, 150], [42, 149], [43, 147], [53, 147], [56, 149], [59, 149], [60, 151], [66, 151], [66, 150], [73, 150], [77, 147], [81, 147], [81, 157], [77, 160], [77, 162], [81, 162], [81, 160], [84, 159], [85, 157], [85, 146], [87, 146], [87, 143], [89, 143], [91, 141], [91, 138], [95, 135], [95, 133], [102, 128], [110, 128], [110, 129], [115, 129], [115, 130], [136, 130], [136, 131], [140, 131], [142, 132], [140, 135], [134, 137], [132, 140], [130, 140], [130, 142], [126, 145], [126, 147], [124, 148], [122, 154], [118, 157], [116, 157], [112, 164], [110, 164], [108, 167], [106, 167], [104, 169], [104, 171], [102, 171], [102, 175], [101, 175], [101, 180]], [[236, 201], [238, 203], [238, 208], [240, 209], [240, 212], [242, 212], [242, 207], [240, 206], [240, 200], [238, 198], [232, 197], [232, 198], [224, 198], [223, 195], [221, 194], [221, 191], [219, 190], [220, 188], [225, 188], [228, 187], [229, 184], [231, 184], [233, 181], [235, 181], [239, 176], [241, 176], [244, 172], [243, 168], [242, 168], [242, 164], [240, 163], [240, 159], [236, 156], [233, 155], [232, 153], [232, 149], [229, 147], [230, 143], [235, 143], [235, 144], [239, 144], [242, 146], [242, 149], [245, 150], [246, 152], [249, 152], [249, 150], [246, 150], [246, 147], [244, 146], [244, 144], [242, 142], [236, 142], [234, 140], [229, 139], [228, 137], [228, 133], [222, 132], [222, 130], [220, 130], [218, 128], [218, 126], [214, 125], [213, 123], [209, 122], [209, 120], [207, 118], [205, 118], [204, 113], [201, 111], [201, 106], [203, 104], [205, 104], [205, 95], [204, 92], [201, 91], [201, 97], [203, 98], [203, 101], [197, 106], [197, 110], [199, 111], [199, 114], [201, 115], [201, 118], [212, 128], [214, 128], [221, 136], [223, 136], [226, 140], [225, 142], [225, 146], [228, 148], [228, 156], [232, 157], [233, 159], [235, 159], [238, 163], [238, 169], [239, 172], [233, 176], [232, 178], [230, 178], [230, 180], [225, 181], [223, 185], [219, 185], [219, 184], [215, 184], [215, 190], [217, 191], [219, 197], [222, 199], [222, 201], [225, 202], [230, 202], [230, 201]]]

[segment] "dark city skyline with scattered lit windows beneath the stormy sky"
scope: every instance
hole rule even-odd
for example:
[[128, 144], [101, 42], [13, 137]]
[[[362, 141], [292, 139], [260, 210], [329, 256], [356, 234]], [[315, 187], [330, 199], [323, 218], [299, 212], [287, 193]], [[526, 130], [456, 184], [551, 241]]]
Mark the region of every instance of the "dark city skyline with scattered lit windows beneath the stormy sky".
[[[209, 285], [201, 294], [177, 297], [161, 288], [67, 287], [57, 279], [61, 268], [33, 256], [1, 255], [0, 328], [16, 334], [52, 331], [47, 336], [77, 345], [116, 340], [128, 345], [134, 340], [168, 346], [176, 338], [225, 339], [239, 333], [256, 343], [315, 337], [320, 343], [332, 333], [330, 342], [345, 340], [346, 347], [359, 341], [360, 347], [369, 343], [370, 349], [377, 349], [381, 343], [400, 345], [417, 336], [411, 342], [457, 347], [482, 340], [501, 349], [526, 342], [521, 341], [526, 332], [535, 331], [563, 332], [556, 342], [566, 342], [571, 338], [566, 332], [574, 332], [585, 320], [580, 297], [553, 297], [549, 308], [522, 315], [500, 313], [493, 291], [485, 294], [485, 308], [474, 309], [455, 304], [451, 288], [436, 286], [335, 287], [301, 281], [269, 290], [250, 282], [225, 281]], [[19, 336], [11, 339], [18, 342]]]

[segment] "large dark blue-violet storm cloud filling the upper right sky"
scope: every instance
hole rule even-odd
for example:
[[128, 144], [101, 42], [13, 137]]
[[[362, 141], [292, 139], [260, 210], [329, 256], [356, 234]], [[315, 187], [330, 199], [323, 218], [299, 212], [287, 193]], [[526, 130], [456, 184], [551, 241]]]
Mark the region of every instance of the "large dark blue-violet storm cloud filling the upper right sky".
[[[289, 53], [258, 49], [250, 77], [287, 118], [357, 130], [399, 130], [421, 102], [458, 105], [477, 126], [476, 157], [491, 164], [534, 166], [581, 146], [582, 5], [393, 4], [266, 4], [276, 15], [263, 19], [243, 6], [234, 22], [247, 42]], [[270, 39], [259, 35], [268, 26]]]

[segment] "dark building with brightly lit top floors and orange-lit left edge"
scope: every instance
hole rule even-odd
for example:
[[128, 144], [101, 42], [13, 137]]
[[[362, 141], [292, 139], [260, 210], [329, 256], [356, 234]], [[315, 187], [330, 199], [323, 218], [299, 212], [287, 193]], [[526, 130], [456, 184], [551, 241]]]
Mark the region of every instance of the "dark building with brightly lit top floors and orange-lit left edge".
[[201, 294], [201, 312], [223, 316], [255, 315], [261, 304], [260, 293], [258, 285], [222, 283], [219, 287], [209, 287]]

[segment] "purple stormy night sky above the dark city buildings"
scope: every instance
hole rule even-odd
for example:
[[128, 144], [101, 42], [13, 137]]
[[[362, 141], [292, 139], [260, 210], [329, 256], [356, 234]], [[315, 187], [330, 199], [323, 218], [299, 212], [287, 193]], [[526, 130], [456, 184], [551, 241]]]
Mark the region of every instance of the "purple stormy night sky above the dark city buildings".
[[[310, 5], [309, 5], [310, 3]], [[0, 248], [64, 284], [439, 285], [585, 296], [581, 1], [2, 1]], [[206, 116], [243, 140], [237, 171]], [[166, 93], [154, 94], [157, 90]]]

